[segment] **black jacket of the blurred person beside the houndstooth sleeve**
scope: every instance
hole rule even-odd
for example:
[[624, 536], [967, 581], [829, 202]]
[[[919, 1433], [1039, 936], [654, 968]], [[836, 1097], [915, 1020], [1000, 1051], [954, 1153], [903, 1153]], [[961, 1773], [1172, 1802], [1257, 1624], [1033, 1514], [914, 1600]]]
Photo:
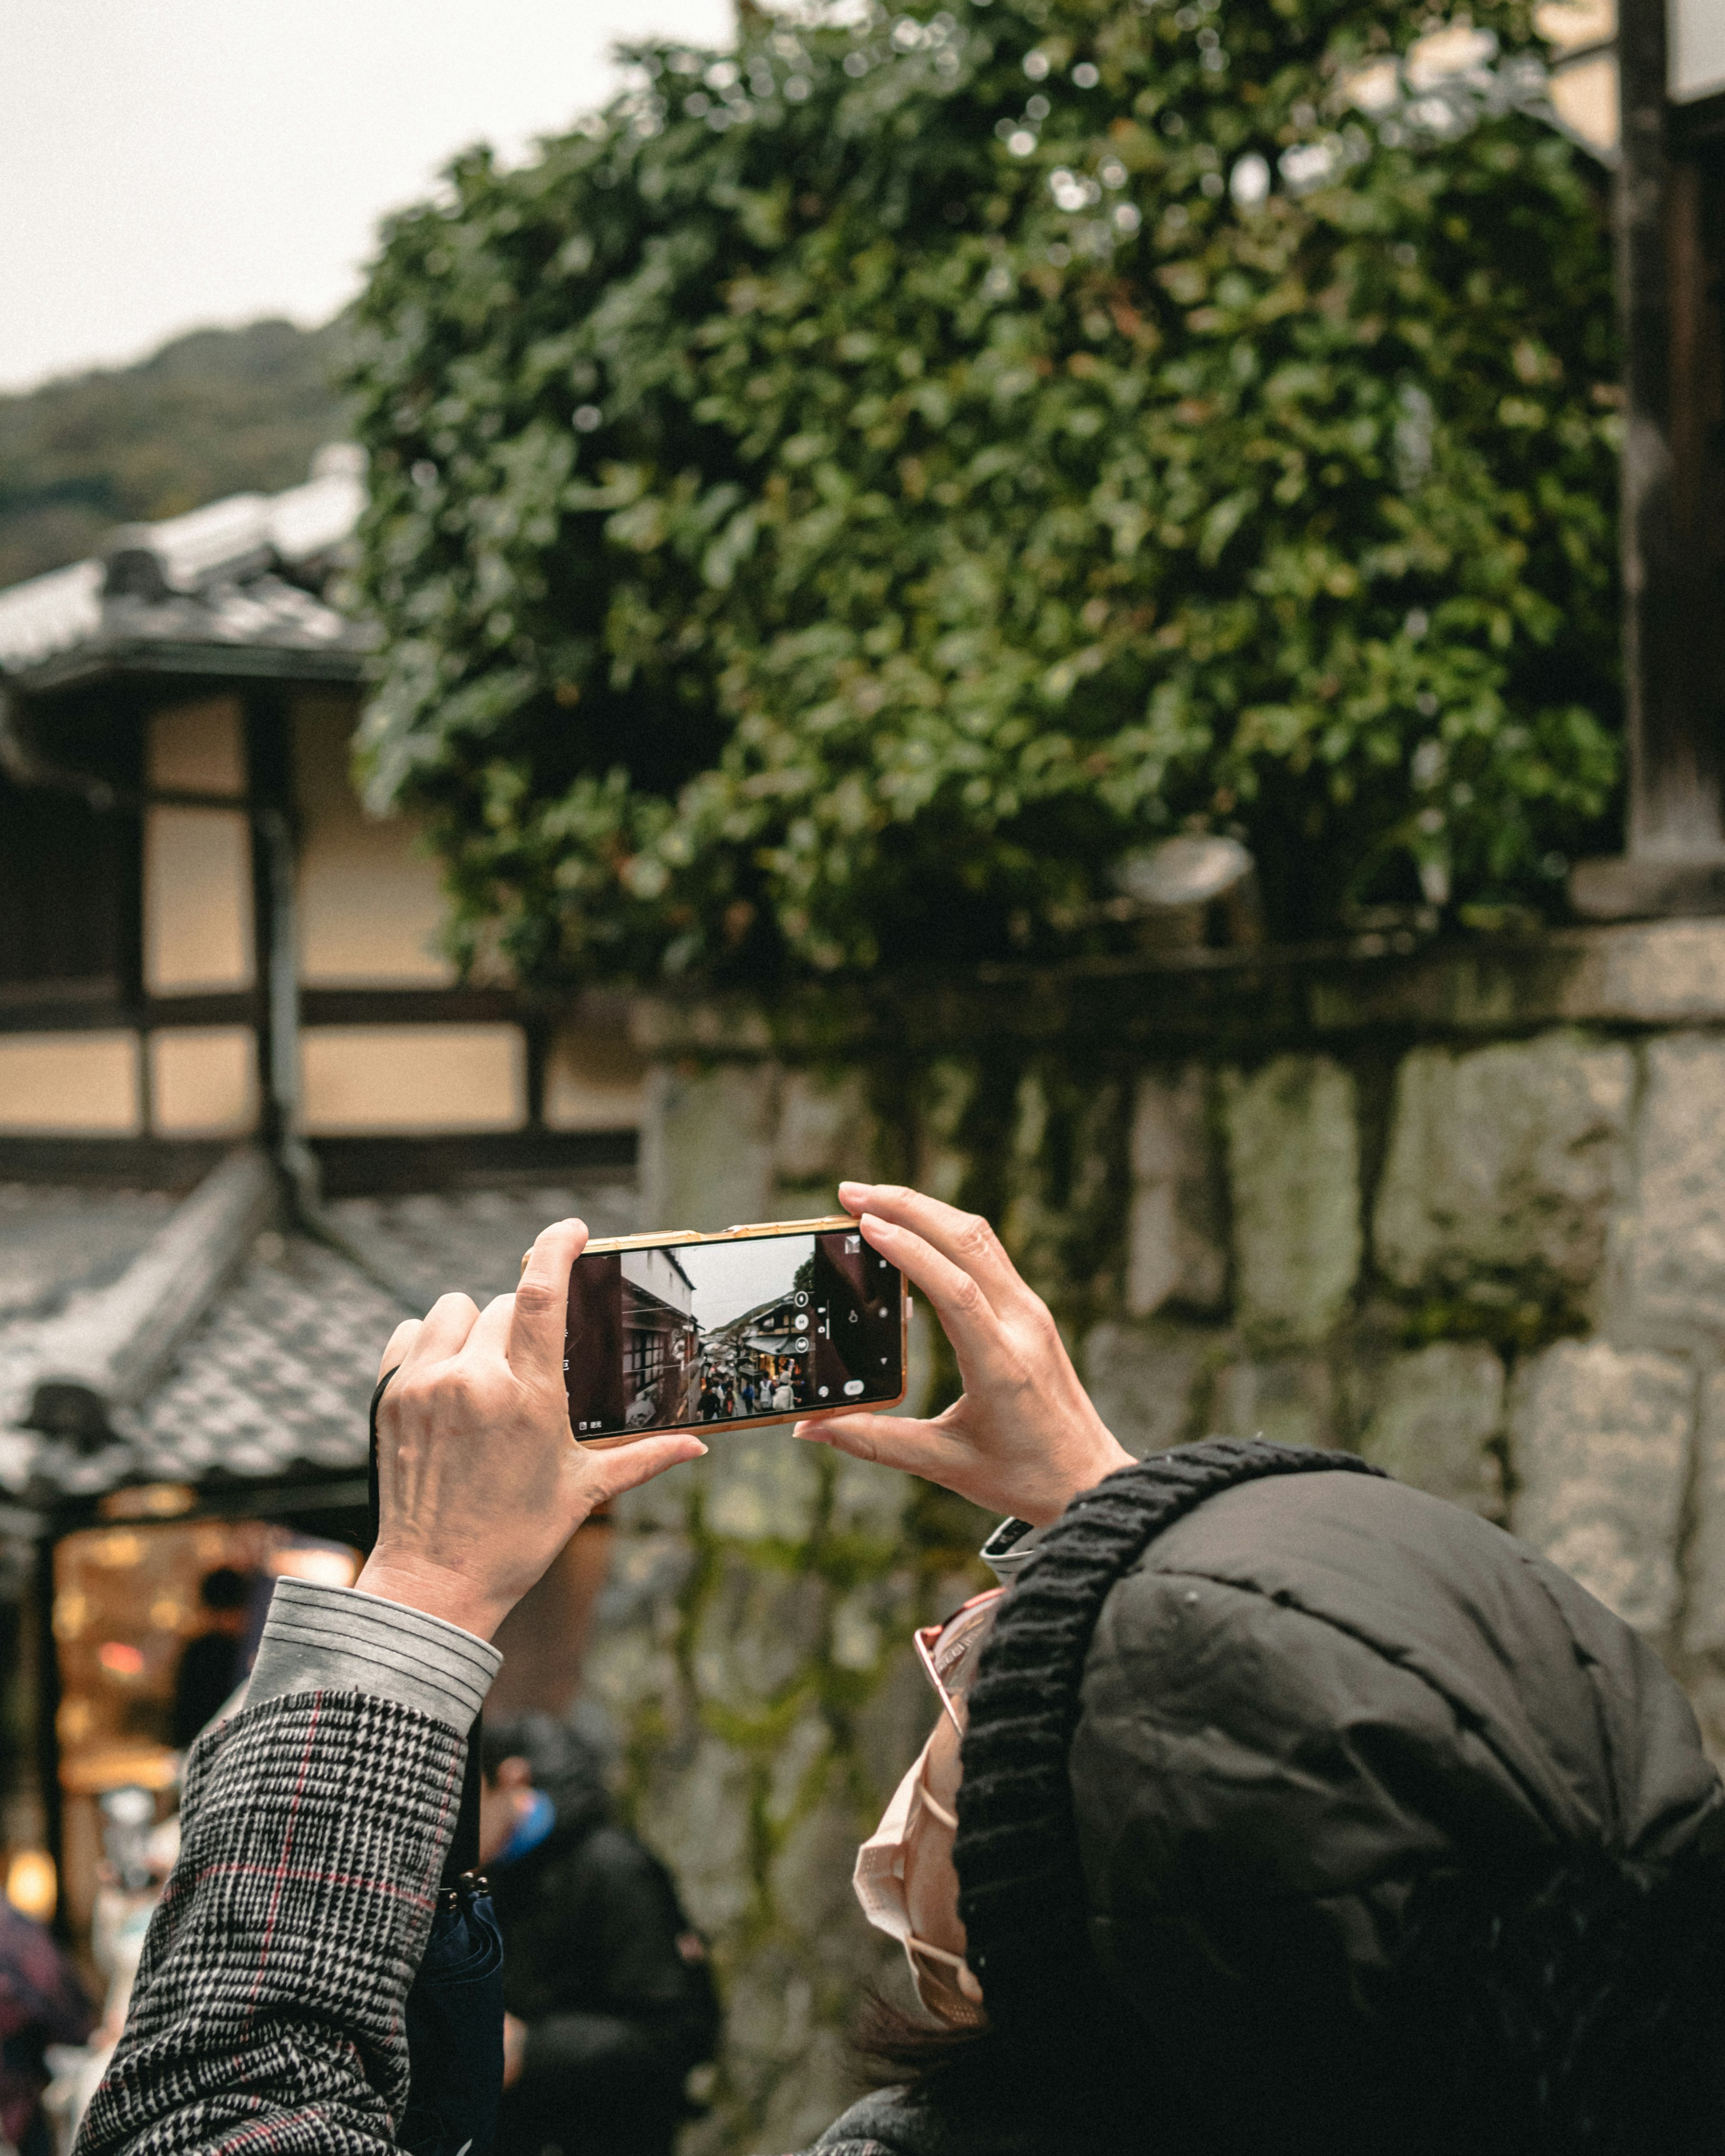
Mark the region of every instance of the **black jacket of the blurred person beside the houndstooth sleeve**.
[[660, 2156], [718, 2035], [705, 1947], [664, 1865], [589, 1802], [489, 1876], [505, 2007], [528, 2024], [496, 2156]]

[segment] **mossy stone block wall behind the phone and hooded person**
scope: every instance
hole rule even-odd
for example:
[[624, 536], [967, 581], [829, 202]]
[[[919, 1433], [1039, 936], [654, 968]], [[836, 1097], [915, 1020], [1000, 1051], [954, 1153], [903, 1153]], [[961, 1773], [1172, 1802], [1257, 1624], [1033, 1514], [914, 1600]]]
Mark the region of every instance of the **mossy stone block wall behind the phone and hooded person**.
[[[1725, 1751], [1725, 923], [895, 983], [638, 1013], [643, 1218], [988, 1212], [1136, 1453], [1350, 1447], [1501, 1520], [1665, 1654]], [[914, 1406], [953, 1391], [919, 1330]], [[776, 1432], [623, 1507], [589, 1690], [729, 2005], [696, 2152], [850, 2091], [895, 1953], [850, 1897], [921, 1742], [910, 1628], [985, 1522]]]

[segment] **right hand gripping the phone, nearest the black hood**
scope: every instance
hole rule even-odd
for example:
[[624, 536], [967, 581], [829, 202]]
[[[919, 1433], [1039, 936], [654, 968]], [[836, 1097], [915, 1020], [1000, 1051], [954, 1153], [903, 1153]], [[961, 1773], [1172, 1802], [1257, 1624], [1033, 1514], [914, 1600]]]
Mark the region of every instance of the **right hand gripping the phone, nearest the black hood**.
[[988, 1220], [897, 1184], [839, 1184], [839, 1203], [929, 1298], [964, 1393], [932, 1421], [834, 1414], [798, 1423], [796, 1436], [908, 1468], [1035, 1526], [1132, 1464], [1078, 1384], [1048, 1304], [1020, 1281]]

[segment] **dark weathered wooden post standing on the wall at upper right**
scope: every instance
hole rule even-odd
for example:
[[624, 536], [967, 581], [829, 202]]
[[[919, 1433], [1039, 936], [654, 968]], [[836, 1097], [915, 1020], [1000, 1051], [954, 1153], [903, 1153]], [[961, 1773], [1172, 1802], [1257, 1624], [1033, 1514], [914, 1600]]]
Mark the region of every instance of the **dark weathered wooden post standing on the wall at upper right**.
[[1617, 69], [1628, 830], [1622, 858], [1576, 865], [1570, 895], [1593, 918], [1712, 914], [1725, 912], [1714, 190], [1695, 153], [1673, 155], [1667, 0], [1619, 0]]

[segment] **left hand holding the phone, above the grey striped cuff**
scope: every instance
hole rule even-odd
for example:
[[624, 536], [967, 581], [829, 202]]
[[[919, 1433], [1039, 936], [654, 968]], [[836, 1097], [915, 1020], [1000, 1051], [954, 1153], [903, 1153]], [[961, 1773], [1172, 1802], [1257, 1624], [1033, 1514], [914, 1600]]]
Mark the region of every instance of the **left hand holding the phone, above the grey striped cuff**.
[[380, 1376], [377, 1548], [358, 1587], [489, 1639], [580, 1522], [699, 1460], [694, 1436], [589, 1451], [569, 1434], [563, 1326], [580, 1220], [535, 1242], [513, 1296], [440, 1296], [397, 1326]]

